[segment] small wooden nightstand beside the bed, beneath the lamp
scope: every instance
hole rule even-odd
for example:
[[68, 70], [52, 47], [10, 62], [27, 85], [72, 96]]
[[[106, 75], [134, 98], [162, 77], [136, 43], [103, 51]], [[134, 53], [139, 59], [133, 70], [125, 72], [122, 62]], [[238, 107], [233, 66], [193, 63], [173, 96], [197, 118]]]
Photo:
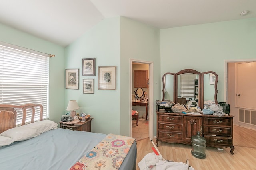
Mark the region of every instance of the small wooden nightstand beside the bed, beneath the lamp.
[[73, 123], [73, 124], [66, 124], [60, 122], [60, 128], [63, 129], [70, 129], [74, 131], [86, 131], [86, 132], [91, 132], [91, 121], [92, 119], [88, 119], [85, 122], [78, 122], [78, 123]]

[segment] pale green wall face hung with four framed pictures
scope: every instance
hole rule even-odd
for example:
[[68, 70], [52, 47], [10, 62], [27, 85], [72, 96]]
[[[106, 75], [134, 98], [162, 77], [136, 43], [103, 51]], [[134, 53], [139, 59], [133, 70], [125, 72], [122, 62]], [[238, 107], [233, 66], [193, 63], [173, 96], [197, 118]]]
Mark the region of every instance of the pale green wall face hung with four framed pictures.
[[[95, 133], [120, 134], [120, 18], [102, 20], [66, 47], [66, 68], [79, 69], [79, 90], [66, 90], [65, 107], [76, 100], [90, 114]], [[82, 76], [82, 59], [96, 58], [96, 76]], [[116, 90], [98, 90], [98, 66], [116, 66]], [[83, 94], [83, 79], [94, 79], [94, 94]]]

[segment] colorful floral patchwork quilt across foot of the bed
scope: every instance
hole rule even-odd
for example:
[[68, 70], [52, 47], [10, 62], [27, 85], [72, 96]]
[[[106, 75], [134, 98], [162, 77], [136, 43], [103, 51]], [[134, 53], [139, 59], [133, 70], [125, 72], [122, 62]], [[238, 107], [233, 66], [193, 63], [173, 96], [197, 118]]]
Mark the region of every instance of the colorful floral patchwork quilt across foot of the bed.
[[70, 170], [118, 170], [135, 139], [108, 134]]

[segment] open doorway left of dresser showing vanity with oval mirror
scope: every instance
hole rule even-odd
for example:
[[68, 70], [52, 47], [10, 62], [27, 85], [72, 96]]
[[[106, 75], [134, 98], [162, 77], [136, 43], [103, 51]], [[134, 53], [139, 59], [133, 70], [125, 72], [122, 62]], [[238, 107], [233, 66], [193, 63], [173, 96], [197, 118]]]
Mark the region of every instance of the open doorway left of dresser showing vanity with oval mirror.
[[[135, 77], [134, 77], [135, 74]], [[135, 79], [135, 80], [134, 80]], [[152, 138], [152, 63], [130, 60], [130, 136]], [[145, 82], [146, 80], [146, 82]], [[134, 98], [134, 96], [136, 98]], [[137, 114], [138, 117], [136, 115]]]

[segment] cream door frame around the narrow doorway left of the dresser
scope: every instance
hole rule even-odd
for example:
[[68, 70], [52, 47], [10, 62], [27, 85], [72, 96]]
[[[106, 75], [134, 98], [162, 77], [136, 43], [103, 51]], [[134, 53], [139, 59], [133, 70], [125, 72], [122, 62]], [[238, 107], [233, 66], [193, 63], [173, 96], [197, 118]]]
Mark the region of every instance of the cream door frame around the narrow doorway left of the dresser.
[[[148, 64], [148, 98], [150, 99], [148, 102], [148, 136], [150, 139], [153, 139], [153, 99], [154, 99], [154, 90], [153, 90], [153, 62], [151, 61], [143, 61], [138, 59], [130, 59], [130, 70], [129, 70], [129, 94], [132, 94], [132, 63], [142, 63]], [[130, 98], [130, 112], [132, 113], [132, 95], [129, 95]], [[130, 137], [132, 136], [132, 115], [130, 114]]]

